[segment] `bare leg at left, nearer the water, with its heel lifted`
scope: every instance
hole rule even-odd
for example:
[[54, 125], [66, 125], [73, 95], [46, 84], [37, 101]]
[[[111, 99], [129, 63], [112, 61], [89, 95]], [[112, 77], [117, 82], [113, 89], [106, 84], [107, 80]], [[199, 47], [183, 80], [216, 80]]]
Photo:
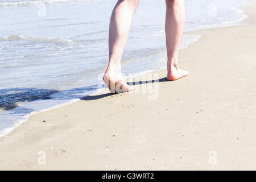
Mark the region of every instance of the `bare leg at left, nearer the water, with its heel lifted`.
[[[111, 15], [109, 25], [109, 65], [103, 80], [112, 93], [129, 92], [121, 73], [121, 57], [128, 38], [131, 19], [140, 0], [119, 0]], [[119, 88], [119, 89], [118, 89]]]

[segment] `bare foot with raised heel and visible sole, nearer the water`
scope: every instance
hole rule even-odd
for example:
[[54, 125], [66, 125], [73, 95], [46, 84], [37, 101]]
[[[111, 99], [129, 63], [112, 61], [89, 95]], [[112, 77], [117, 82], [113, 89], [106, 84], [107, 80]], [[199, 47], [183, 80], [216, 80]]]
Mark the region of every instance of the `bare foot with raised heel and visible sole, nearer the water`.
[[108, 86], [111, 93], [130, 92], [135, 88], [127, 85], [123, 80], [121, 69], [108, 68], [103, 76], [103, 81]]

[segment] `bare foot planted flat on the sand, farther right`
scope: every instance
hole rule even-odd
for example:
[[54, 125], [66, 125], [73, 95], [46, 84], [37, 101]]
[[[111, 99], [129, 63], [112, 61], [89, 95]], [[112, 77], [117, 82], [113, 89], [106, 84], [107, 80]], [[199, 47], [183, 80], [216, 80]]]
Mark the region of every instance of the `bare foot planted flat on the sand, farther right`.
[[167, 65], [167, 69], [168, 69], [168, 73], [167, 73], [168, 81], [178, 80], [179, 78], [183, 78], [189, 75], [188, 71], [184, 71], [180, 69], [176, 64], [172, 67], [168, 67]]

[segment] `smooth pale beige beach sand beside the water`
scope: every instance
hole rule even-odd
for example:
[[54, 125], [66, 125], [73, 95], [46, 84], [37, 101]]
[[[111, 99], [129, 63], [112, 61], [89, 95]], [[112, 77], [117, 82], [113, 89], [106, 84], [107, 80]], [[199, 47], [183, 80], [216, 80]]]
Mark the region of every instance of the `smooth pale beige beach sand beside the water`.
[[0, 138], [0, 169], [255, 170], [255, 9], [250, 24], [189, 33], [202, 38], [180, 51], [188, 77], [168, 82], [158, 71], [140, 93], [32, 115]]

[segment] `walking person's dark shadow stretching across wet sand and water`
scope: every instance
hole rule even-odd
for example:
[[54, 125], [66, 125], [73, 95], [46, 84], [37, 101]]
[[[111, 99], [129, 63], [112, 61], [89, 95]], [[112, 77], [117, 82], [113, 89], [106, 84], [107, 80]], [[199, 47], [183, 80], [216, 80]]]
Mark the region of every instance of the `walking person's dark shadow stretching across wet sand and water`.
[[[152, 82], [165, 82], [167, 78], [160, 78], [158, 80], [135, 81], [127, 82], [128, 85], [142, 85]], [[33, 111], [21, 105], [24, 102], [31, 102], [36, 100], [72, 100], [79, 98], [84, 101], [98, 100], [104, 97], [112, 96], [112, 93], [98, 94], [95, 96], [84, 96], [82, 93], [97, 90], [103, 85], [91, 85], [82, 88], [75, 88], [69, 90], [54, 90], [54, 89], [35, 89], [35, 88], [10, 88], [0, 90], [0, 111], [15, 109], [15, 114], [27, 114]]]

